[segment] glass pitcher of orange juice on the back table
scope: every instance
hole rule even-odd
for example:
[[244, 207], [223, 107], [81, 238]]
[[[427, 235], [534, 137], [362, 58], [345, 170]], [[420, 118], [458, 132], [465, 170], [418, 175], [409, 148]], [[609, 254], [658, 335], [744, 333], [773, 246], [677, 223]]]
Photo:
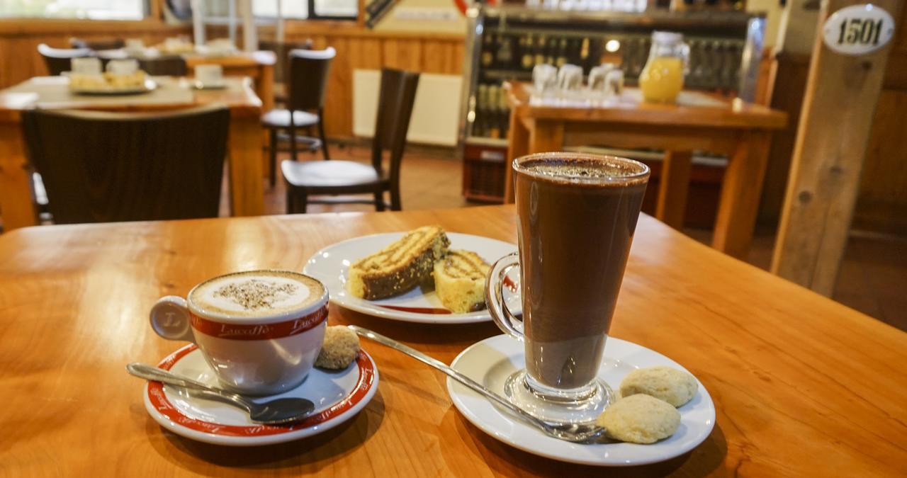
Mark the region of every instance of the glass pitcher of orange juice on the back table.
[[652, 32], [649, 61], [639, 73], [639, 90], [647, 102], [675, 102], [688, 71], [689, 45], [683, 34]]

